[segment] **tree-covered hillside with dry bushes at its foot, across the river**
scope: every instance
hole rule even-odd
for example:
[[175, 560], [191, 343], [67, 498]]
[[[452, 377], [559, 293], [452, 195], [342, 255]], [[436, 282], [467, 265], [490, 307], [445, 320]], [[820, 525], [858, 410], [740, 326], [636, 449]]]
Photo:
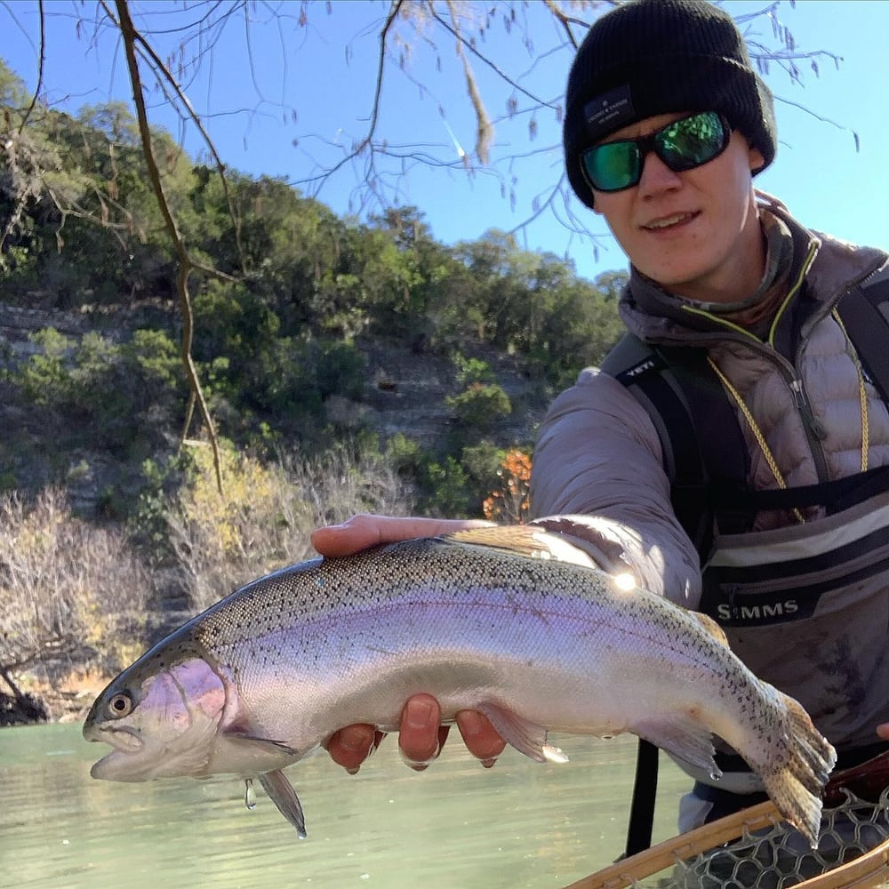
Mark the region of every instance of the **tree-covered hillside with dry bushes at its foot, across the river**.
[[196, 263], [189, 356], [220, 491], [208, 429], [184, 428], [179, 255], [131, 113], [32, 102], [2, 62], [0, 105], [13, 696], [120, 669], [183, 613], [303, 557], [318, 524], [481, 516], [506, 489], [527, 509], [534, 430], [620, 335], [622, 274], [582, 280], [499, 230], [441, 244], [412, 206], [340, 218], [283, 179], [223, 180], [153, 132]]

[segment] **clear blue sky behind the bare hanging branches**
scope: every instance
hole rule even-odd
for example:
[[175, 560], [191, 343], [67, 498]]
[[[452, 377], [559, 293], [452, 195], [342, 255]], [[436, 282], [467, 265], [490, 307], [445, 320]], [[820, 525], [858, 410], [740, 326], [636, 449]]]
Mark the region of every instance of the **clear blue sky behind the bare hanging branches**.
[[[736, 17], [769, 5], [765, 0], [725, 3]], [[172, 28], [175, 11], [182, 6], [155, 0], [133, 3], [132, 10], [137, 17], [147, 14], [156, 24]], [[518, 18], [509, 33], [505, 4], [469, 3], [461, 8], [464, 14], [477, 16], [493, 6], [498, 8], [497, 17], [479, 47], [497, 59], [519, 86], [554, 106], [564, 92], [570, 55], [555, 52], [559, 35], [543, 5], [516, 4]], [[29, 87], [36, 83], [36, 8], [32, 0], [0, 4], [0, 55]], [[48, 0], [45, 8], [46, 97], [70, 111], [109, 99], [129, 100], [118, 41], [108, 28], [97, 27], [95, 5], [89, 0], [85, 4]], [[200, 46], [201, 68], [194, 77], [186, 73], [188, 97], [206, 116], [207, 129], [226, 164], [252, 175], [282, 176], [309, 191], [317, 183], [306, 179], [317, 172], [318, 164], [340, 159], [343, 146], [366, 132], [375, 52], [388, 4], [333, 0], [330, 12], [323, 3], [309, 4], [301, 22], [303, 7], [296, 2], [253, 4], [251, 9], [249, 43], [242, 17], [214, 32], [218, 39], [212, 46], [209, 41]], [[270, 9], [281, 14], [274, 17]], [[792, 32], [798, 49], [827, 51], [842, 61], [837, 68], [829, 57], [815, 57], [818, 76], [809, 60], [799, 62], [802, 84], [792, 83], [774, 65], [765, 76], [778, 99], [781, 144], [775, 163], [757, 177], [757, 185], [780, 196], [811, 228], [889, 247], [885, 212], [889, 2], [783, 2], [776, 19]], [[775, 45], [770, 20], [760, 17], [743, 27], [750, 29], [752, 40]], [[504, 89], [484, 63], [470, 57], [492, 118], [504, 114], [510, 95], [517, 100], [513, 121], [496, 125], [491, 164], [470, 174], [459, 162], [457, 147], [471, 152], [476, 123], [453, 39], [431, 25], [419, 35], [404, 26], [400, 33], [410, 38], [411, 48], [404, 67], [396, 59], [385, 68], [378, 133], [392, 147], [421, 144], [437, 164], [447, 165], [430, 167], [408, 160], [403, 176], [394, 180], [389, 171], [385, 181], [397, 185], [402, 204], [420, 207], [434, 236], [445, 243], [477, 238], [488, 228], [517, 227], [533, 215], [535, 198], [545, 199], [561, 174], [555, 110], [542, 108], [533, 115], [536, 137], [529, 141], [532, 116], [526, 109], [531, 100], [514, 87]], [[531, 49], [523, 43], [527, 36], [533, 40]], [[158, 41], [164, 56], [176, 45], [172, 34]], [[183, 140], [192, 154], [200, 150], [194, 129], [180, 129], [156, 93], [151, 118]], [[858, 151], [852, 131], [859, 137]], [[397, 170], [401, 172], [401, 166]], [[380, 172], [386, 172], [385, 165]], [[317, 196], [340, 214], [376, 209], [361, 186], [365, 179], [362, 164], [346, 164], [324, 182]], [[520, 243], [531, 250], [568, 255], [588, 277], [624, 268], [626, 260], [604, 223], [578, 202], [573, 212], [595, 236], [595, 251], [589, 239], [572, 236], [549, 212], [517, 233]]]

